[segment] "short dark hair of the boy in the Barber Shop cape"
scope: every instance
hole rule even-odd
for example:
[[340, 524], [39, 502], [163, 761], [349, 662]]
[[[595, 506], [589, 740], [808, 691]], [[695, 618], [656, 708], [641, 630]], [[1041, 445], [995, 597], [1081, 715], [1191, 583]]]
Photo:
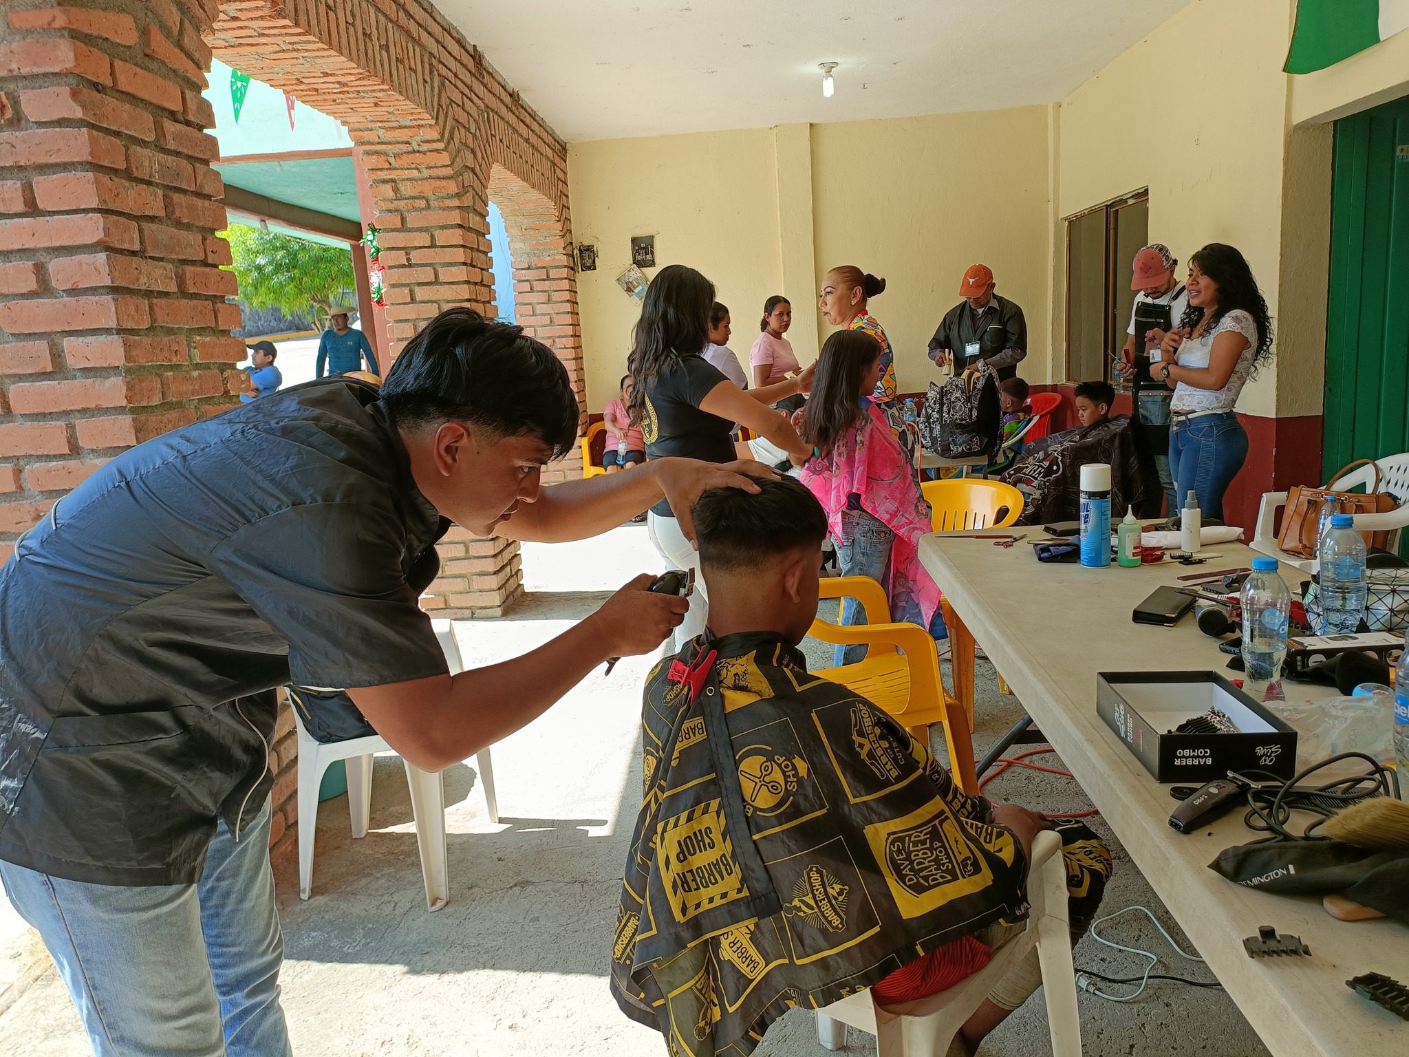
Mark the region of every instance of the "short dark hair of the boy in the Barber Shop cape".
[[816, 544], [827, 537], [827, 514], [807, 486], [793, 478], [759, 481], [751, 495], [741, 488], [716, 488], [695, 505], [700, 564], [716, 569], [747, 569]]

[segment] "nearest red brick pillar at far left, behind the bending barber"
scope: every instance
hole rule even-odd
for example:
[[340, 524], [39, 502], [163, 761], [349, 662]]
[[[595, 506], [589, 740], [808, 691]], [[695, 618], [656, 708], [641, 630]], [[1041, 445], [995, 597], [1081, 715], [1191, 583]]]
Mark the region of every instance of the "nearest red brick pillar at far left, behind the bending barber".
[[0, 560], [131, 444], [240, 392], [210, 51], [172, 7], [8, 4], [0, 35]]

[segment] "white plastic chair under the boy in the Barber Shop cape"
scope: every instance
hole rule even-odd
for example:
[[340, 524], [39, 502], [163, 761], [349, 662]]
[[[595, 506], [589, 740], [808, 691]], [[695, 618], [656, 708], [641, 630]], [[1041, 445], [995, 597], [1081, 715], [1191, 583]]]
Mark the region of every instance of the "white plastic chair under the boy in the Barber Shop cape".
[[869, 991], [858, 991], [817, 1010], [817, 1041], [828, 1050], [841, 1050], [847, 1044], [847, 1025], [851, 1025], [876, 1037], [881, 1057], [943, 1054], [1014, 960], [1036, 946], [1053, 1057], [1081, 1057], [1081, 1019], [1067, 919], [1067, 865], [1061, 839], [1051, 830], [1038, 833], [1033, 841], [1027, 898], [1033, 905], [1027, 929], [999, 947], [981, 972], [924, 999], [916, 1012], [905, 1015], [888, 1013], [871, 1001]]

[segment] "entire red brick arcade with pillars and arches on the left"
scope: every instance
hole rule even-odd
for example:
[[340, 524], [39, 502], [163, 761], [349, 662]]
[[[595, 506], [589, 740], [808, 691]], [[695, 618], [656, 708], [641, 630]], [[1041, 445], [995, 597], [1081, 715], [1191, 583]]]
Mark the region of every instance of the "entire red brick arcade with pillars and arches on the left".
[[[234, 402], [245, 357], [224, 187], [201, 99], [211, 55], [341, 120], [383, 230], [390, 355], [452, 304], [493, 311], [490, 196], [517, 313], [581, 393], [566, 148], [420, 0], [10, 0], [0, 34], [0, 561], [121, 450]], [[579, 397], [581, 399], [581, 397]], [[547, 481], [575, 476], [576, 455]], [[499, 616], [517, 544], [452, 530], [426, 599]], [[280, 712], [272, 844], [296, 840]]]

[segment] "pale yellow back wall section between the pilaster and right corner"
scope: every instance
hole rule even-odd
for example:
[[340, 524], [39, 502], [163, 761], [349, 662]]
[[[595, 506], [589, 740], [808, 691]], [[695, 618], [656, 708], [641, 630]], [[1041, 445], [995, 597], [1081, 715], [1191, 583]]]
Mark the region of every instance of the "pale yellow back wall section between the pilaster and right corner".
[[[1047, 334], [1047, 110], [847, 121], [812, 128], [817, 280], [854, 264], [883, 276], [871, 303], [896, 351], [902, 392], [936, 378], [926, 357], [975, 262], [1023, 306], [1041, 381]], [[823, 324], [821, 337], [831, 333]]]

